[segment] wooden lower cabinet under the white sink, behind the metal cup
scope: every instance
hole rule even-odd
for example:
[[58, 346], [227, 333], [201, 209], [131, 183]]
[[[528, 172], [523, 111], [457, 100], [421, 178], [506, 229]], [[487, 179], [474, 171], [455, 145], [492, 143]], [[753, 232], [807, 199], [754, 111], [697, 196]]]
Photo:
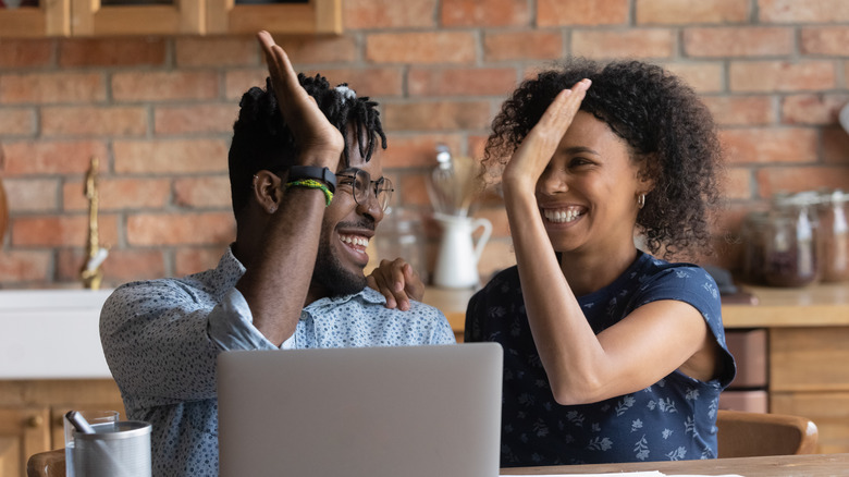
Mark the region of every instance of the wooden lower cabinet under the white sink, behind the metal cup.
[[64, 448], [62, 416], [71, 409], [114, 409], [126, 419], [111, 379], [0, 381], [0, 476], [26, 475], [30, 455]]

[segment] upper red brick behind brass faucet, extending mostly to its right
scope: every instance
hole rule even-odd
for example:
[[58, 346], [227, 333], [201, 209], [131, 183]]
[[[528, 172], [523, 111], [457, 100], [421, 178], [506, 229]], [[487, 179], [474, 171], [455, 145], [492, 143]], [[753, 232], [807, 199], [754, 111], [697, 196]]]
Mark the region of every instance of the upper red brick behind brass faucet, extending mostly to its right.
[[[65, 183], [62, 187], [64, 209], [88, 210], [83, 182]], [[168, 205], [171, 182], [167, 179], [98, 179], [100, 210], [151, 209]]]

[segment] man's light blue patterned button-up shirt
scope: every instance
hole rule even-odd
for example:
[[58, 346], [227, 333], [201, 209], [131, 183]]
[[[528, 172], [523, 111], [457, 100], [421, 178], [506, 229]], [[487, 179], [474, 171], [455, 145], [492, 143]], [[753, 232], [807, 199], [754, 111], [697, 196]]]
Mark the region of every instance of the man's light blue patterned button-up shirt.
[[[244, 266], [227, 249], [217, 268], [182, 279], [127, 283], [107, 299], [100, 339], [130, 419], [153, 426], [155, 476], [218, 475], [216, 358], [226, 350], [274, 350], [235, 289]], [[387, 309], [380, 293], [322, 298], [281, 347], [454, 343], [444, 315], [413, 302]]]

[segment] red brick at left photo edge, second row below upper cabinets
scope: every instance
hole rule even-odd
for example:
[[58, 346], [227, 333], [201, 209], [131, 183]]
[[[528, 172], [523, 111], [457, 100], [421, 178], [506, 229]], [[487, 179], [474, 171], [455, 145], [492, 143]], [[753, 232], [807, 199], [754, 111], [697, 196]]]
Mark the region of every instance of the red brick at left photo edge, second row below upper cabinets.
[[0, 75], [0, 102], [66, 103], [106, 100], [103, 73], [24, 73]]

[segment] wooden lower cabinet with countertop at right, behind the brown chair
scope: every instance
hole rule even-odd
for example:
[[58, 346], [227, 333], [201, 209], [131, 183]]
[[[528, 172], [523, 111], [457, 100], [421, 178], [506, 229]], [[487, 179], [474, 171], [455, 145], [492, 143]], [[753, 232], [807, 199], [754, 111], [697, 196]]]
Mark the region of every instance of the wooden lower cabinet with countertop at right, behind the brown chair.
[[849, 284], [746, 291], [759, 303], [723, 305], [723, 321], [767, 330], [770, 412], [813, 420], [817, 453], [849, 452]]

